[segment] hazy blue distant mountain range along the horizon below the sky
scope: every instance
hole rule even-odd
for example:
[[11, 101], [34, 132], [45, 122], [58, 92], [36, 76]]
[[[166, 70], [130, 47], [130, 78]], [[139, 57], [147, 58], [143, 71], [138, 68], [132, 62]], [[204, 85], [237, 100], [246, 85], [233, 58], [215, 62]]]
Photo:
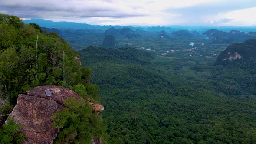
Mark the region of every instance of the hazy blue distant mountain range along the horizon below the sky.
[[237, 27], [237, 26], [220, 26], [220, 27], [213, 27], [213, 26], [100, 26], [100, 25], [90, 25], [86, 23], [74, 23], [74, 22], [53, 22], [51, 20], [44, 20], [44, 19], [31, 19], [31, 20], [23, 20], [24, 23], [37, 23], [41, 27], [47, 27], [47, 28], [56, 28], [56, 29], [100, 29], [100, 30], [107, 30], [111, 27], [114, 27], [115, 29], [121, 29], [121, 28], [130, 28], [132, 30], [147, 30], [147, 31], [158, 31], [161, 30], [165, 31], [177, 31], [182, 29], [187, 29], [189, 31], [199, 31], [199, 32], [205, 32], [209, 29], [218, 29], [222, 31], [230, 31], [232, 29], [236, 29], [243, 32], [250, 32], [250, 31], [256, 31], [256, 27]]

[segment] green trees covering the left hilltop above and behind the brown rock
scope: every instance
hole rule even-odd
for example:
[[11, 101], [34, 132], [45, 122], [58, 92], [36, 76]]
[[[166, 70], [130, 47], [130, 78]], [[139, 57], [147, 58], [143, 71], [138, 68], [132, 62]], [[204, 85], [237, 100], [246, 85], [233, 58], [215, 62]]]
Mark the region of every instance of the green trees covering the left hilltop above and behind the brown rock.
[[91, 69], [79, 65], [77, 52], [56, 33], [47, 35], [36, 23], [25, 25], [16, 16], [1, 14], [0, 39], [0, 81], [12, 105], [19, 92], [38, 85], [89, 84]]

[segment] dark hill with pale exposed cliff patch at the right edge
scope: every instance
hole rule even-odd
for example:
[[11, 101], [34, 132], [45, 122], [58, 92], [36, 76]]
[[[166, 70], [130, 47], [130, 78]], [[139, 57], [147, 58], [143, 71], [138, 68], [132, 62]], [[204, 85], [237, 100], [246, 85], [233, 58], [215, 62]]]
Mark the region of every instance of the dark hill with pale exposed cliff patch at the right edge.
[[231, 44], [219, 54], [215, 64], [226, 65], [234, 61], [243, 61], [246, 63], [256, 62], [256, 39]]

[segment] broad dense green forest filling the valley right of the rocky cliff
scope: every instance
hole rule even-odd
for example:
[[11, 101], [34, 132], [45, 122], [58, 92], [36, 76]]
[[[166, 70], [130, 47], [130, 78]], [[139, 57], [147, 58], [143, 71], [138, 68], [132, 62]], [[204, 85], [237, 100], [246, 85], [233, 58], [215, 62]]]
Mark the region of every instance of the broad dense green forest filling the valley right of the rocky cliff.
[[222, 65], [193, 62], [190, 66], [183, 56], [160, 57], [131, 47], [91, 46], [79, 55], [94, 72], [92, 82], [101, 88], [111, 144], [250, 144], [256, 140], [254, 84], [247, 83], [251, 85], [247, 91], [234, 79], [255, 77], [249, 71], [244, 75], [238, 69], [230, 77]]

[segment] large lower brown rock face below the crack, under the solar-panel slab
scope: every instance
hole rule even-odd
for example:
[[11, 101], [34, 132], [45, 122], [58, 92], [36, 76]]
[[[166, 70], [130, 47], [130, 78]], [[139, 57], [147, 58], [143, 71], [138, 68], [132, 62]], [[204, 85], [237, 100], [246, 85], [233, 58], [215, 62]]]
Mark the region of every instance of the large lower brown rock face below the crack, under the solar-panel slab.
[[51, 117], [63, 108], [53, 100], [20, 94], [9, 116], [21, 125], [20, 131], [26, 136], [24, 144], [52, 144], [58, 129], [52, 128]]

